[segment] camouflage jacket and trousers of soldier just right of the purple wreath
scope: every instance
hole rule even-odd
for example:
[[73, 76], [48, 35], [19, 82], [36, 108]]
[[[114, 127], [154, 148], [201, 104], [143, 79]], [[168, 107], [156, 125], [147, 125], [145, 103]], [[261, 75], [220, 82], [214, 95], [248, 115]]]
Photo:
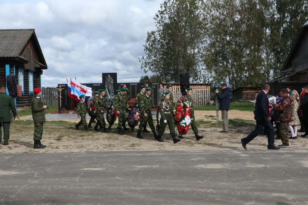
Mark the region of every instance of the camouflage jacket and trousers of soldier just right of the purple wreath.
[[[140, 101], [140, 124], [139, 124], [139, 132], [142, 131], [144, 128], [145, 122], [148, 122], [151, 130], [153, 133], [156, 134], [154, 124], [153, 124], [153, 118], [151, 113], [151, 108], [154, 108], [155, 106], [152, 104], [152, 98], [151, 96], [147, 96], [144, 94], [144, 97]], [[148, 116], [144, 116], [144, 114], [147, 114]]]

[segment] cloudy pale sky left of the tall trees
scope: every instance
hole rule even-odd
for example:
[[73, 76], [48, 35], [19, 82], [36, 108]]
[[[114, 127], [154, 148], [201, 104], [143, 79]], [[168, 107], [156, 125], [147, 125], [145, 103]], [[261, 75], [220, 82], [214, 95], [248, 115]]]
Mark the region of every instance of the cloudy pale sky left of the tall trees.
[[[102, 73], [118, 82], [146, 75], [139, 56], [163, 0], [0, 0], [1, 29], [35, 29], [48, 69], [42, 85], [75, 78], [101, 83]], [[147, 75], [152, 75], [148, 73]]]

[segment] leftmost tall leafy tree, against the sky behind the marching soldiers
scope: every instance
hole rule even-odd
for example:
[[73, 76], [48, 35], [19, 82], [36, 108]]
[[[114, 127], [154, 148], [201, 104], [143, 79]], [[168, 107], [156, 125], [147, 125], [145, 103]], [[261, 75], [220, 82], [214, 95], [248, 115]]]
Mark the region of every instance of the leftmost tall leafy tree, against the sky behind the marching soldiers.
[[180, 72], [190, 72], [194, 81], [204, 75], [206, 47], [203, 0], [166, 0], [156, 13], [156, 30], [148, 32], [140, 57], [141, 69], [165, 82], [179, 82]]

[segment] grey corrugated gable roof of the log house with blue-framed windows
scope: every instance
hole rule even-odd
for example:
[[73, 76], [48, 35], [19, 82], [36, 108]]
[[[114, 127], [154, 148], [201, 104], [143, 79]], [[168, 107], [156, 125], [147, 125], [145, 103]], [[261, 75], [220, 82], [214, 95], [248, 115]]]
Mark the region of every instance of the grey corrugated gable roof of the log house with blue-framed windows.
[[47, 66], [34, 29], [0, 30], [0, 57], [20, 57], [29, 40], [32, 40], [39, 61]]

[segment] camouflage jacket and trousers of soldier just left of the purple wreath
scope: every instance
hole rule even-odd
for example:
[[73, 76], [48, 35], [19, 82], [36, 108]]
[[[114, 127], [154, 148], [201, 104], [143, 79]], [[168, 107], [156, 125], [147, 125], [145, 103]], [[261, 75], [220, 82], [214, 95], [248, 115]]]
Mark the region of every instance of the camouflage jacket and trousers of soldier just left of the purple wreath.
[[126, 96], [123, 95], [121, 92], [116, 94], [115, 99], [113, 101], [113, 107], [116, 109], [116, 111], [119, 111], [120, 114], [118, 114], [119, 117], [119, 124], [117, 129], [122, 129], [123, 124], [126, 122], [128, 114], [127, 114], [127, 109], [128, 109], [128, 104], [126, 101]]

